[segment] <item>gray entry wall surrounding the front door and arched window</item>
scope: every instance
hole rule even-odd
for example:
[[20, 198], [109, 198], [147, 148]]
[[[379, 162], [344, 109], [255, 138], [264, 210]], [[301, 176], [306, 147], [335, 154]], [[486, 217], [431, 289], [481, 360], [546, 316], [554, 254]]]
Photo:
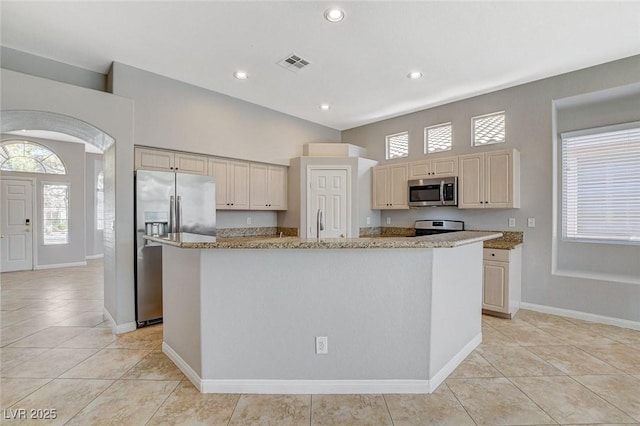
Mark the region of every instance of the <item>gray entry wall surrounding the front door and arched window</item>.
[[[36, 238], [36, 256], [34, 267], [78, 264], [85, 261], [85, 226], [84, 226], [84, 145], [52, 141], [40, 138], [25, 138], [20, 135], [3, 134], [2, 141], [9, 139], [28, 140], [49, 148], [55, 152], [64, 163], [66, 175], [43, 175], [40, 173], [9, 173], [2, 172], [6, 178], [33, 178], [35, 179], [36, 203], [33, 206]], [[64, 245], [44, 245], [43, 221], [42, 221], [42, 187], [45, 183], [65, 183], [69, 185], [69, 243]]]

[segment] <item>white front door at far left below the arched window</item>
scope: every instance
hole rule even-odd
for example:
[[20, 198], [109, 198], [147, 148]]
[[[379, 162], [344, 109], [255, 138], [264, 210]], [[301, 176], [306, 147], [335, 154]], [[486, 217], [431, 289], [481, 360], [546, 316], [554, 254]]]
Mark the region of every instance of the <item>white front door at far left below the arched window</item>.
[[0, 272], [33, 269], [33, 184], [2, 179]]

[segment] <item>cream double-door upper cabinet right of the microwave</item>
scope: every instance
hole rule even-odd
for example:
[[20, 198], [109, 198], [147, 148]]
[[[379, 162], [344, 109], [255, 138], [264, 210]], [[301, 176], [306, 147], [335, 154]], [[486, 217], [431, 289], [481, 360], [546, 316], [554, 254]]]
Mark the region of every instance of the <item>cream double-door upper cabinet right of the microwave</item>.
[[518, 150], [461, 155], [458, 159], [458, 208], [520, 207]]

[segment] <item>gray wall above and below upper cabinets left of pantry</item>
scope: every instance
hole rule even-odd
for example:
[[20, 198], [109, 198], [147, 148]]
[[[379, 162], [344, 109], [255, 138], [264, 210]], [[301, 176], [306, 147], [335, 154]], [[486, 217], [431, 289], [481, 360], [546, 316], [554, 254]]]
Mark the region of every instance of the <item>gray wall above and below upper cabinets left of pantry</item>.
[[[305, 143], [340, 142], [337, 130], [121, 63], [110, 82], [135, 102], [138, 145], [288, 165]], [[277, 225], [273, 213], [221, 212], [217, 226], [247, 227], [249, 216], [251, 227]]]

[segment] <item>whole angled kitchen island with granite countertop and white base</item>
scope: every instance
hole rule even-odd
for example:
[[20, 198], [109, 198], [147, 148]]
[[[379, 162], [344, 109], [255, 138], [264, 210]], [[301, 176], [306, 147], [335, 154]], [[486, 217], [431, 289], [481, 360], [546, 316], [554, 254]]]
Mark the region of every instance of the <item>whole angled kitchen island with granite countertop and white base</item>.
[[500, 236], [145, 237], [163, 244], [163, 351], [207, 393], [430, 393], [482, 340], [482, 242]]

